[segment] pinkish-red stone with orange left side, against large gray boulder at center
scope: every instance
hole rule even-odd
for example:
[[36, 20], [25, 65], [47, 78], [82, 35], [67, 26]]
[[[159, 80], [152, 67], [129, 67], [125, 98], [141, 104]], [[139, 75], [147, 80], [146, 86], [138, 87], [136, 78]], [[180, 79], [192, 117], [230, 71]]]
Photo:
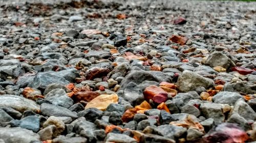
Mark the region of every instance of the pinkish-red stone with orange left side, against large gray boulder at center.
[[153, 99], [153, 97], [155, 95], [158, 95], [160, 93], [166, 93], [166, 92], [163, 89], [157, 87], [156, 85], [150, 85], [149, 87], [146, 87], [144, 92], [143, 92], [144, 98], [147, 101], [149, 101], [150, 99]]

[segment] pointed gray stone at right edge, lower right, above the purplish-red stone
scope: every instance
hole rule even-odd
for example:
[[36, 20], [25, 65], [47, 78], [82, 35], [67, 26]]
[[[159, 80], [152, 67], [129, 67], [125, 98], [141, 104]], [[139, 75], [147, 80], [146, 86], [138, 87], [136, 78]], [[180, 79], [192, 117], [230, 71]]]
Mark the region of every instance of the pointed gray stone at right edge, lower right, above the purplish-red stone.
[[239, 99], [236, 103], [234, 103], [230, 114], [232, 115], [234, 113], [238, 113], [238, 115], [247, 121], [256, 120], [256, 112], [243, 99]]

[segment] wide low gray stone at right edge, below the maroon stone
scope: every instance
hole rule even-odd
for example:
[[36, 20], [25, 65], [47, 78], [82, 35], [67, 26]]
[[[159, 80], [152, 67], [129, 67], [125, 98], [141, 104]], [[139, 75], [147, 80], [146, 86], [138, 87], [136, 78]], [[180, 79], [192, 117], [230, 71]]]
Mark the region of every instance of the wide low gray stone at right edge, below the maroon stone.
[[224, 85], [223, 91], [227, 92], [240, 92], [244, 94], [254, 94], [256, 93], [256, 84], [240, 81], [235, 83], [226, 83]]

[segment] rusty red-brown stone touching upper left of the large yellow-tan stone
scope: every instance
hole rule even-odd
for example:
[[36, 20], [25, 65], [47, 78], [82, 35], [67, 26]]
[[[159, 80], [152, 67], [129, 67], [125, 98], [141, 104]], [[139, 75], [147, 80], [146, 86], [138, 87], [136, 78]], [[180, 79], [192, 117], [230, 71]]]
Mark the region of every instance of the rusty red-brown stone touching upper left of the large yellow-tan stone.
[[98, 92], [77, 92], [74, 95], [75, 101], [79, 102], [81, 100], [90, 102], [100, 94]]

